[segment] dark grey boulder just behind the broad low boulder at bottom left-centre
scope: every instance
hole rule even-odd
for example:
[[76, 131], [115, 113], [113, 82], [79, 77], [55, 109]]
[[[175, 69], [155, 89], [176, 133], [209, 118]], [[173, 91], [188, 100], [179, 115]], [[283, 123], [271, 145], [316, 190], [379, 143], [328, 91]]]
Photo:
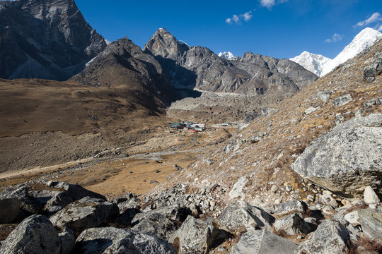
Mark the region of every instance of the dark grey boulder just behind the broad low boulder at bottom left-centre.
[[168, 241], [170, 240], [170, 234], [178, 227], [163, 214], [149, 213], [141, 217], [139, 223], [133, 226], [132, 229]]

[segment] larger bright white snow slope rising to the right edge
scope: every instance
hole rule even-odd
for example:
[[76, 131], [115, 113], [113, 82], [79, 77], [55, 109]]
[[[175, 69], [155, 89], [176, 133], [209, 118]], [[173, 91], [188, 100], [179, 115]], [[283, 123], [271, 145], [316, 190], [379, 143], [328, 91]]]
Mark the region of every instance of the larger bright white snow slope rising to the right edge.
[[376, 40], [381, 36], [381, 32], [378, 32], [372, 28], [365, 28], [359, 32], [359, 34], [354, 37], [352, 42], [350, 42], [350, 44], [347, 45], [345, 49], [343, 49], [342, 52], [335, 57], [335, 59], [328, 62], [328, 64], [324, 66], [323, 75], [330, 73], [330, 71], [339, 66], [341, 63], [345, 63], [345, 61], [352, 59], [365, 49], [373, 46]]

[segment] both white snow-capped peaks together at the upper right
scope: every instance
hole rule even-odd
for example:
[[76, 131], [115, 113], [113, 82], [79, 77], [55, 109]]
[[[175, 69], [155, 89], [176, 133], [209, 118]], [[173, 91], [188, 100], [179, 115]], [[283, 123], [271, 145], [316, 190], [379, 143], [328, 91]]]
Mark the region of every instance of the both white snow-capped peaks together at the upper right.
[[328, 57], [319, 54], [303, 52], [299, 56], [291, 58], [290, 60], [299, 63], [303, 68], [322, 77], [323, 75], [330, 73], [330, 71], [341, 63], [345, 63], [345, 61], [352, 59], [354, 56], [357, 56], [357, 54], [371, 47], [376, 40], [378, 40], [378, 37], [381, 36], [381, 32], [372, 28], [365, 28], [354, 37], [352, 42], [350, 42], [350, 44], [348, 44], [345, 49], [335, 57], [335, 59], [329, 59]]

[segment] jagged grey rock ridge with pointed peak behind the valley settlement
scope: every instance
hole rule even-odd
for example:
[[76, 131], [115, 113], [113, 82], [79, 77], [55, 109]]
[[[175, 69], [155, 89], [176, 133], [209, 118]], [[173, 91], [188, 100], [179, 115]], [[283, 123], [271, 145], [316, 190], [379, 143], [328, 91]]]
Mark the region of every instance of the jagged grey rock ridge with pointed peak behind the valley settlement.
[[248, 52], [243, 58], [229, 61], [205, 47], [189, 48], [163, 28], [146, 43], [144, 52], [156, 56], [175, 88], [261, 95], [296, 92], [317, 79], [287, 59]]

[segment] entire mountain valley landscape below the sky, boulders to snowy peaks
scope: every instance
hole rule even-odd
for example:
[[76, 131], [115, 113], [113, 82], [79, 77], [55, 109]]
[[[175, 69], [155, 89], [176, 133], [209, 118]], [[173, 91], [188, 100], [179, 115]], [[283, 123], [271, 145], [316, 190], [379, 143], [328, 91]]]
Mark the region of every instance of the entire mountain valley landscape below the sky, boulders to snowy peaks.
[[334, 59], [148, 39], [0, 1], [0, 253], [382, 253], [381, 32]]

